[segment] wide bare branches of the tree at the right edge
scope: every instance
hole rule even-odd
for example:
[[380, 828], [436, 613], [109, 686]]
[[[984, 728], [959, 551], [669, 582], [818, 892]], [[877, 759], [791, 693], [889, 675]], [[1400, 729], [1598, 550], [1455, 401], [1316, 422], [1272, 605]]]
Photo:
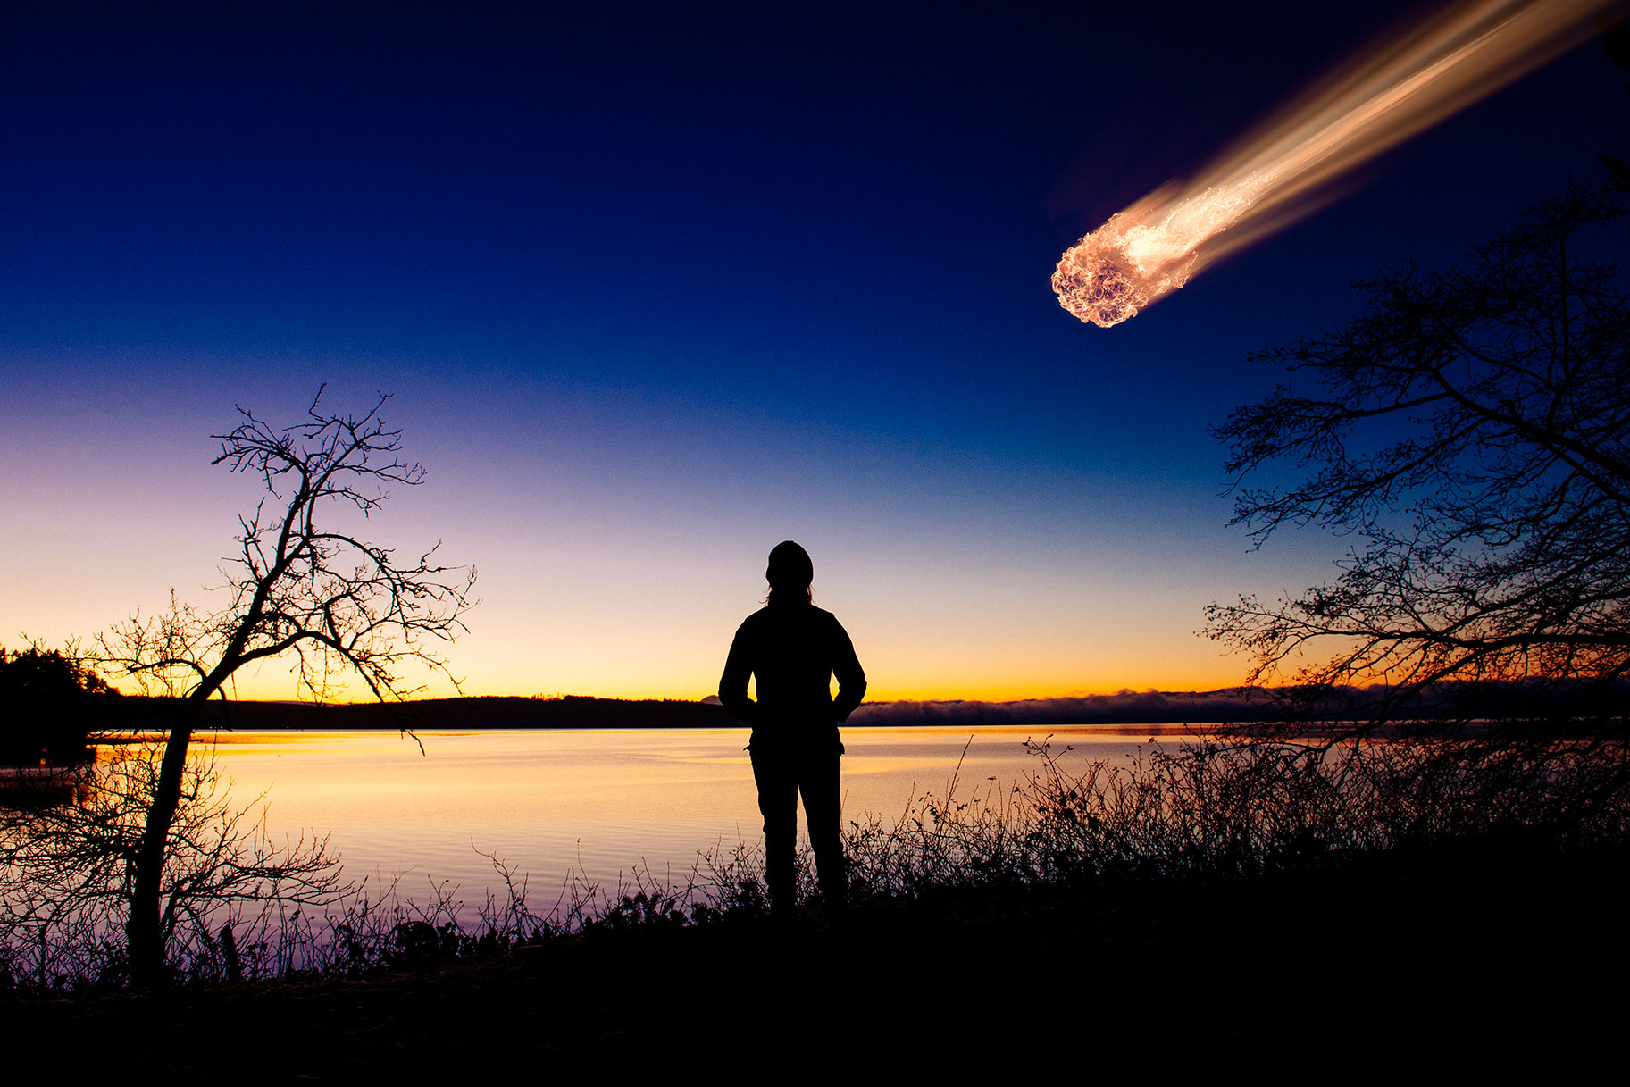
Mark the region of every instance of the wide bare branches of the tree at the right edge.
[[[1369, 311], [1257, 355], [1294, 375], [1216, 433], [1234, 523], [1355, 538], [1333, 583], [1211, 605], [1250, 680], [1610, 684], [1630, 667], [1625, 196], [1581, 189], [1464, 267], [1363, 282]], [[1245, 486], [1293, 466], [1284, 486]]]

